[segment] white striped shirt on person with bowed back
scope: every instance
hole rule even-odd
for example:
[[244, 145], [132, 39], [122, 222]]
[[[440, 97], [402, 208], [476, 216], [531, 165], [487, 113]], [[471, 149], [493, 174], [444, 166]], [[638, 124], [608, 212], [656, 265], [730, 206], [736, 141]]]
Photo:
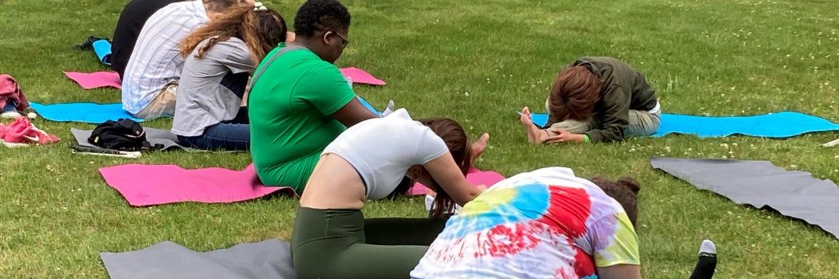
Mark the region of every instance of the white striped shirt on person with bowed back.
[[146, 21], [122, 76], [123, 109], [142, 111], [169, 81], [180, 78], [185, 60], [180, 41], [209, 21], [202, 0], [172, 3]]

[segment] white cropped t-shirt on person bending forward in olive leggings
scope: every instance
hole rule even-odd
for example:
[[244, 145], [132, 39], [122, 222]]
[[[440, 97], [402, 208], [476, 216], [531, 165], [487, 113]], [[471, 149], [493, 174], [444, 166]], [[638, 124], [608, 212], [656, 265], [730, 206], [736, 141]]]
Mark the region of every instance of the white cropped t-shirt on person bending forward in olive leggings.
[[396, 189], [408, 168], [449, 152], [446, 142], [414, 121], [405, 109], [362, 121], [341, 133], [322, 154], [347, 160], [362, 177], [367, 199], [382, 199]]

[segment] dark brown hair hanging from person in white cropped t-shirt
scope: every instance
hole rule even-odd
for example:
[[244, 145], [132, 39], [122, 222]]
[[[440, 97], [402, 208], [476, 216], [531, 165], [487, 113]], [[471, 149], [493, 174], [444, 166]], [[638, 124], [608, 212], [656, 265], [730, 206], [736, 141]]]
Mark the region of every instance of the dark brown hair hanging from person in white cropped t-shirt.
[[[446, 142], [446, 147], [449, 147], [449, 152], [451, 152], [451, 157], [455, 159], [457, 167], [461, 169], [463, 175], [466, 175], [469, 168], [472, 168], [472, 143], [466, 137], [466, 131], [463, 130], [461, 124], [449, 118], [427, 118], [418, 121], [429, 127], [431, 131], [443, 139], [443, 142]], [[434, 179], [432, 178], [432, 180]], [[440, 217], [440, 215], [454, 209], [455, 202], [451, 200], [446, 190], [440, 188], [440, 184], [436, 181], [432, 182], [434, 182], [433, 185], [425, 185], [437, 193], [434, 203], [431, 204], [430, 216]]]

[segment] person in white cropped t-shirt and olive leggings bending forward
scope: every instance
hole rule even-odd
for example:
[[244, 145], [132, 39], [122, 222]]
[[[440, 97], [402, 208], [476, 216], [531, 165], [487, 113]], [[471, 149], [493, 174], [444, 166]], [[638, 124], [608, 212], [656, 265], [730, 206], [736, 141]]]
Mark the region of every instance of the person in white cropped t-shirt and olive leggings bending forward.
[[[300, 278], [407, 278], [440, 233], [442, 212], [481, 193], [466, 182], [472, 147], [456, 121], [404, 109], [362, 121], [321, 153], [300, 196], [291, 255]], [[432, 218], [365, 220], [367, 199], [408, 176], [436, 191]]]

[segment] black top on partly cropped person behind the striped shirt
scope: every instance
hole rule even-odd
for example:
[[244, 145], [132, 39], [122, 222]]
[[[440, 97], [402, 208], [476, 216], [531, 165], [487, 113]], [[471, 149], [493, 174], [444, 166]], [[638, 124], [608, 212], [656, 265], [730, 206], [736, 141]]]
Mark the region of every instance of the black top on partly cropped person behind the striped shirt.
[[119, 78], [128, 66], [128, 58], [134, 51], [134, 44], [140, 36], [140, 30], [146, 20], [160, 8], [181, 0], [132, 0], [125, 5], [122, 13], [119, 14], [117, 27], [113, 30], [113, 41], [111, 43], [111, 69], [117, 71]]

